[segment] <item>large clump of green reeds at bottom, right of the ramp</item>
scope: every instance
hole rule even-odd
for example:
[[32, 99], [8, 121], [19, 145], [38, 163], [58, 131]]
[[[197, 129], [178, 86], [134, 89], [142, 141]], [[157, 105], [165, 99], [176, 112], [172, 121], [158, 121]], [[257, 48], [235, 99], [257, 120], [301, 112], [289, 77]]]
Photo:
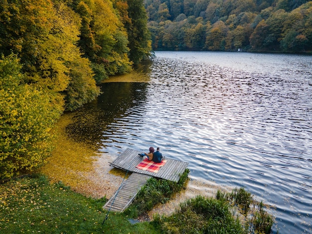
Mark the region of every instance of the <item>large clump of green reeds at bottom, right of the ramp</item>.
[[188, 199], [169, 217], [156, 214], [153, 222], [162, 233], [170, 234], [269, 234], [274, 219], [250, 192], [235, 188], [230, 193], [218, 190], [215, 198]]

